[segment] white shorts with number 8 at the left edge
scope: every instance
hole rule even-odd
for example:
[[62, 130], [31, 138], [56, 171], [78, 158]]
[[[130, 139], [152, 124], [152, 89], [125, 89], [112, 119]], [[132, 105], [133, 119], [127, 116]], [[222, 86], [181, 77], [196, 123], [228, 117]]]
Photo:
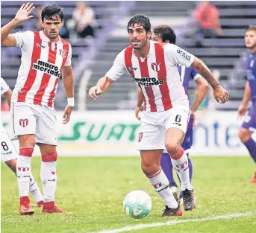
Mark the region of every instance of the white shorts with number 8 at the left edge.
[[17, 159], [18, 153], [10, 141], [10, 137], [4, 127], [1, 125], [1, 162], [7, 162], [12, 159]]

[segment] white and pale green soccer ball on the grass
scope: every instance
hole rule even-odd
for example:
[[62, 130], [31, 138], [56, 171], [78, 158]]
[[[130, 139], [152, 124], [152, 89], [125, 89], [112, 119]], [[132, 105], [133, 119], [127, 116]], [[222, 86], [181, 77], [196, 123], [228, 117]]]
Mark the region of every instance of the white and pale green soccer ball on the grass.
[[123, 208], [130, 217], [140, 219], [149, 215], [152, 199], [146, 192], [134, 190], [126, 195]]

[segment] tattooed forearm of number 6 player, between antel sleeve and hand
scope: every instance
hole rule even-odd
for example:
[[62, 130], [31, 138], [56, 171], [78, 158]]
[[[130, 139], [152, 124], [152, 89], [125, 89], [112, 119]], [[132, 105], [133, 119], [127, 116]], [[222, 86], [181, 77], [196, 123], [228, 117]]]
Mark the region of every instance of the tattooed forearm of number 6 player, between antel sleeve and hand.
[[202, 62], [202, 60], [199, 60], [197, 57], [195, 57], [194, 62], [191, 65], [193, 68], [196, 68], [196, 71], [202, 75], [202, 77], [207, 80], [207, 83], [210, 84], [210, 86], [214, 89], [219, 87], [219, 82], [213, 77], [213, 74], [210, 72], [210, 69], [207, 68], [205, 63]]

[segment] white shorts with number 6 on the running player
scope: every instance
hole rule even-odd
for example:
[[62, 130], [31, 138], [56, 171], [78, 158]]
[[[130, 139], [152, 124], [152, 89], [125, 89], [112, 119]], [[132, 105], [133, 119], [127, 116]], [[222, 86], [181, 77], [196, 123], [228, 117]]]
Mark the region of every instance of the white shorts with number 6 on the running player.
[[165, 112], [141, 112], [140, 118], [137, 150], [160, 150], [165, 149], [166, 130], [178, 128], [187, 132], [190, 109], [175, 106]]

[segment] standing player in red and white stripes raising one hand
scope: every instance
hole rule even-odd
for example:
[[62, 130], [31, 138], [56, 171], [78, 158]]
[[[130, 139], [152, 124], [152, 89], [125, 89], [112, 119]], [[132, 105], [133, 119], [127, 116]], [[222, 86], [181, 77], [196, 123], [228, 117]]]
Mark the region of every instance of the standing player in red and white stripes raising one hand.
[[74, 106], [74, 76], [71, 66], [71, 45], [60, 38], [63, 11], [57, 5], [47, 5], [41, 13], [43, 31], [25, 31], [10, 34], [22, 22], [33, 18], [31, 3], [22, 4], [12, 21], [1, 28], [1, 45], [19, 47], [22, 63], [11, 98], [13, 135], [19, 138], [17, 178], [20, 214], [34, 214], [28, 197], [31, 175], [31, 156], [34, 146], [40, 147], [42, 156], [43, 213], [65, 213], [55, 205], [57, 185], [57, 132], [54, 98], [62, 73], [68, 97], [63, 124], [69, 122]]

